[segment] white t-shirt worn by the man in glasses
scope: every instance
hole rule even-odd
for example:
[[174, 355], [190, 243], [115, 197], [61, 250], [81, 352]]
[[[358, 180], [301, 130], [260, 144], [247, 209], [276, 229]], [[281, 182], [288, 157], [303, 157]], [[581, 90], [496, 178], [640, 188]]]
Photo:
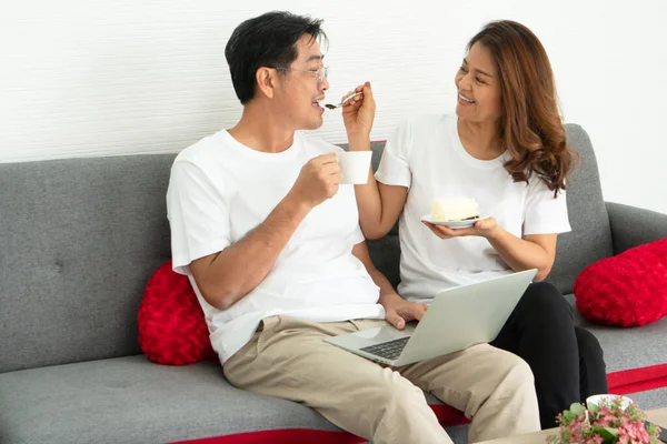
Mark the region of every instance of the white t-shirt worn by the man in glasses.
[[[312, 209], [266, 279], [228, 310], [203, 300], [189, 270], [192, 261], [225, 250], [262, 223], [306, 162], [337, 150], [296, 133], [286, 151], [265, 153], [222, 130], [176, 158], [167, 192], [173, 270], [189, 276], [222, 362], [271, 315], [313, 322], [385, 317], [378, 286], [351, 254], [364, 241], [354, 185], [340, 185], [332, 199]], [[247, 266], [253, 266], [252, 260]]]

